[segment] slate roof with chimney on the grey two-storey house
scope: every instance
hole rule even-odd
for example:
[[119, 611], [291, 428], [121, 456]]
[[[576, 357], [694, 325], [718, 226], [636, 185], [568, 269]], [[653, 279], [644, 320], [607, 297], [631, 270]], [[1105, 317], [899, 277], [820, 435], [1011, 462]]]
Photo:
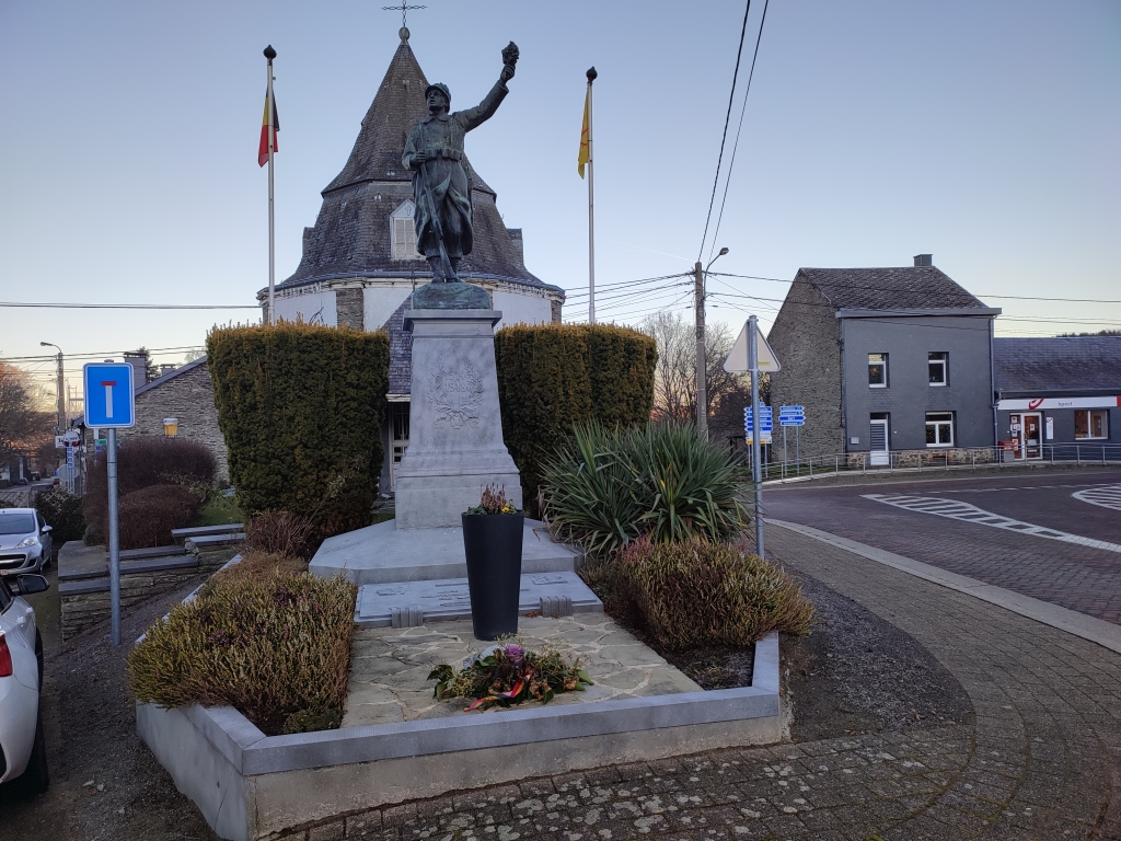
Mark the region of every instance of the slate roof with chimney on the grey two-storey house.
[[798, 269], [836, 309], [939, 309], [985, 305], [934, 266]]

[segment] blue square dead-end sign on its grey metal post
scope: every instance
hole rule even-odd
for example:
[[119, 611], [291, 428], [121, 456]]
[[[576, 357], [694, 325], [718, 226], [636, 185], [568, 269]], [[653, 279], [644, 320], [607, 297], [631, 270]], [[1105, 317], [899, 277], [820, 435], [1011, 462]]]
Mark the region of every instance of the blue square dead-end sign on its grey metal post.
[[113, 645], [121, 644], [121, 545], [117, 517], [117, 431], [136, 423], [132, 366], [89, 362], [83, 368], [85, 425], [106, 431], [109, 478], [109, 602]]

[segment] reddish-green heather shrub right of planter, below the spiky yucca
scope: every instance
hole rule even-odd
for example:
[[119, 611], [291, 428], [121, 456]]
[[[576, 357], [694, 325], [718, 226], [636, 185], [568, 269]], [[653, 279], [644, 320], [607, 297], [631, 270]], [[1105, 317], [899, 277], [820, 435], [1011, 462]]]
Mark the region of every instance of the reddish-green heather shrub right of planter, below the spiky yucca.
[[808, 634], [814, 607], [779, 567], [728, 543], [702, 539], [621, 549], [613, 593], [658, 645], [742, 647], [770, 631]]

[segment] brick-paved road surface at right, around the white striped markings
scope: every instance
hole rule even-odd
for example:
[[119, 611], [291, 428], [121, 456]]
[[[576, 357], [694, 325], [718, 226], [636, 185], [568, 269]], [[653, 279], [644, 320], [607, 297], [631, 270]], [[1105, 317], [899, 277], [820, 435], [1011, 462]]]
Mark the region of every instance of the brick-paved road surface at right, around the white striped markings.
[[768, 489], [763, 500], [767, 516], [1121, 623], [1121, 558], [1117, 553], [892, 508], [862, 496], [884, 492], [955, 499], [1026, 523], [1121, 543], [1121, 518], [1115, 511], [1072, 497], [1078, 488], [1115, 482], [1118, 477], [1115, 472], [1080, 475], [1065, 471], [883, 486], [787, 486]]

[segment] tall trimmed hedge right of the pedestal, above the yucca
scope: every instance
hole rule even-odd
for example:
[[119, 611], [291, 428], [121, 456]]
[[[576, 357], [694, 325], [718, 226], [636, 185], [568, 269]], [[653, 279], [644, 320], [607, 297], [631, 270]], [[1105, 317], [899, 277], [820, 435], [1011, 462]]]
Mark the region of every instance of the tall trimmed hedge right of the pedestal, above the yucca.
[[650, 419], [658, 351], [651, 336], [608, 324], [539, 324], [494, 334], [502, 434], [536, 505], [540, 461], [578, 420]]

